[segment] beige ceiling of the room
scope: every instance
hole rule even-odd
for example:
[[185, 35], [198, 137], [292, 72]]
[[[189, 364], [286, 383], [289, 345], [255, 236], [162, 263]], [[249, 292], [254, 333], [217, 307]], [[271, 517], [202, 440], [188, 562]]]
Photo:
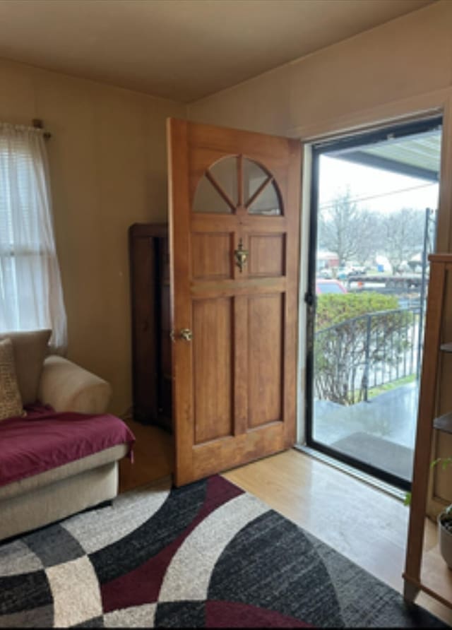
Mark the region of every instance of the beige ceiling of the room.
[[434, 0], [0, 0], [0, 57], [191, 102]]

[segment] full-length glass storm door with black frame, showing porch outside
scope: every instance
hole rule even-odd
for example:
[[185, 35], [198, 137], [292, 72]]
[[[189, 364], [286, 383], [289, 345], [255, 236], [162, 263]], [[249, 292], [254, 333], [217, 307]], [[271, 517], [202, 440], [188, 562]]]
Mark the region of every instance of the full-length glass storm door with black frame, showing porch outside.
[[409, 487], [441, 119], [314, 146], [307, 444]]

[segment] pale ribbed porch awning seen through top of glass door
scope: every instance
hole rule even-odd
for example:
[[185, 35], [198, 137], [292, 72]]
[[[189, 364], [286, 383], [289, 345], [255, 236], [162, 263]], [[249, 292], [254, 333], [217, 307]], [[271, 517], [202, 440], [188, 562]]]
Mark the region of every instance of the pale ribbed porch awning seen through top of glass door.
[[388, 138], [328, 153], [331, 157], [374, 168], [439, 182], [441, 127], [407, 137]]

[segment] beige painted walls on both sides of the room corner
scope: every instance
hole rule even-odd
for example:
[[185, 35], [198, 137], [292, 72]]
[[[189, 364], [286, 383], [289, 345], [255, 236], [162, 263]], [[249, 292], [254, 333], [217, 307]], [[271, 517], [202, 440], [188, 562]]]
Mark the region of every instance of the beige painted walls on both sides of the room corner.
[[[444, 110], [441, 249], [451, 248], [452, 2], [441, 0], [188, 107], [189, 118], [312, 138]], [[69, 357], [131, 404], [127, 228], [167, 215], [165, 118], [186, 107], [0, 61], [0, 120], [44, 119]], [[306, 213], [305, 213], [306, 215]], [[306, 218], [306, 217], [305, 217]]]

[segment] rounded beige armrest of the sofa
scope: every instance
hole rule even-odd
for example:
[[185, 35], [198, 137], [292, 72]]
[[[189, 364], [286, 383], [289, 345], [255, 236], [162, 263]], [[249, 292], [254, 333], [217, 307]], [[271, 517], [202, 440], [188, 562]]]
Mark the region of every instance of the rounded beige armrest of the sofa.
[[50, 355], [44, 360], [38, 398], [55, 411], [103, 413], [111, 395], [107, 381], [68, 359]]

